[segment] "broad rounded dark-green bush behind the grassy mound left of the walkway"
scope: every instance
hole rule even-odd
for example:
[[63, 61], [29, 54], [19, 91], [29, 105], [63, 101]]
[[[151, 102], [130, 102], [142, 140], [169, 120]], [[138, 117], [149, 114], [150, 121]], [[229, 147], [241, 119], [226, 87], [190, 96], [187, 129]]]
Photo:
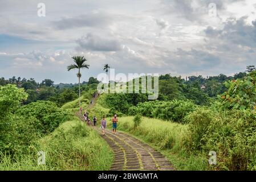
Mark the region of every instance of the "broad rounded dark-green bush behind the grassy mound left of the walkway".
[[50, 101], [38, 101], [19, 107], [14, 114], [0, 119], [0, 150], [7, 154], [23, 154], [36, 139], [51, 133], [70, 113]]

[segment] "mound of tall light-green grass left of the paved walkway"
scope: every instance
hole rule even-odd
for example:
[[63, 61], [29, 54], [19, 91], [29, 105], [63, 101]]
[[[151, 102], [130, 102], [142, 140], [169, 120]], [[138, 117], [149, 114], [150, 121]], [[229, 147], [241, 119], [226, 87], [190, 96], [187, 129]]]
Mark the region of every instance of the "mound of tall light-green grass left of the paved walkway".
[[[108, 170], [113, 154], [107, 143], [79, 119], [63, 123], [52, 134], [30, 146], [30, 155], [1, 154], [0, 170]], [[46, 165], [37, 152], [46, 152]]]

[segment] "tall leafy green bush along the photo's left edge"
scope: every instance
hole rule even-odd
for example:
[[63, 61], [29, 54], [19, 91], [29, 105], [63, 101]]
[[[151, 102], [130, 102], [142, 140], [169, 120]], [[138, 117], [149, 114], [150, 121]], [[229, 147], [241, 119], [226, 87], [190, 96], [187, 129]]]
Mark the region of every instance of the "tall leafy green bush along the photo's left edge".
[[32, 122], [31, 118], [13, 114], [26, 99], [23, 88], [10, 84], [0, 87], [0, 150], [7, 154], [25, 151], [36, 138], [34, 128], [27, 125]]

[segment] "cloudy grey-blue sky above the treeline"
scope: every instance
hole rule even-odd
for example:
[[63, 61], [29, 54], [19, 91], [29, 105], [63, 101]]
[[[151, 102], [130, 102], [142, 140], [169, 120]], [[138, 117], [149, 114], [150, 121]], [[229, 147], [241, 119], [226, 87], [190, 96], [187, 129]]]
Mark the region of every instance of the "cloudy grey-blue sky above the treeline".
[[[38, 16], [38, 3], [46, 16]], [[216, 5], [216, 13], [214, 11]], [[255, 0], [0, 0], [0, 77], [77, 82], [103, 72], [233, 75], [256, 64]]]

